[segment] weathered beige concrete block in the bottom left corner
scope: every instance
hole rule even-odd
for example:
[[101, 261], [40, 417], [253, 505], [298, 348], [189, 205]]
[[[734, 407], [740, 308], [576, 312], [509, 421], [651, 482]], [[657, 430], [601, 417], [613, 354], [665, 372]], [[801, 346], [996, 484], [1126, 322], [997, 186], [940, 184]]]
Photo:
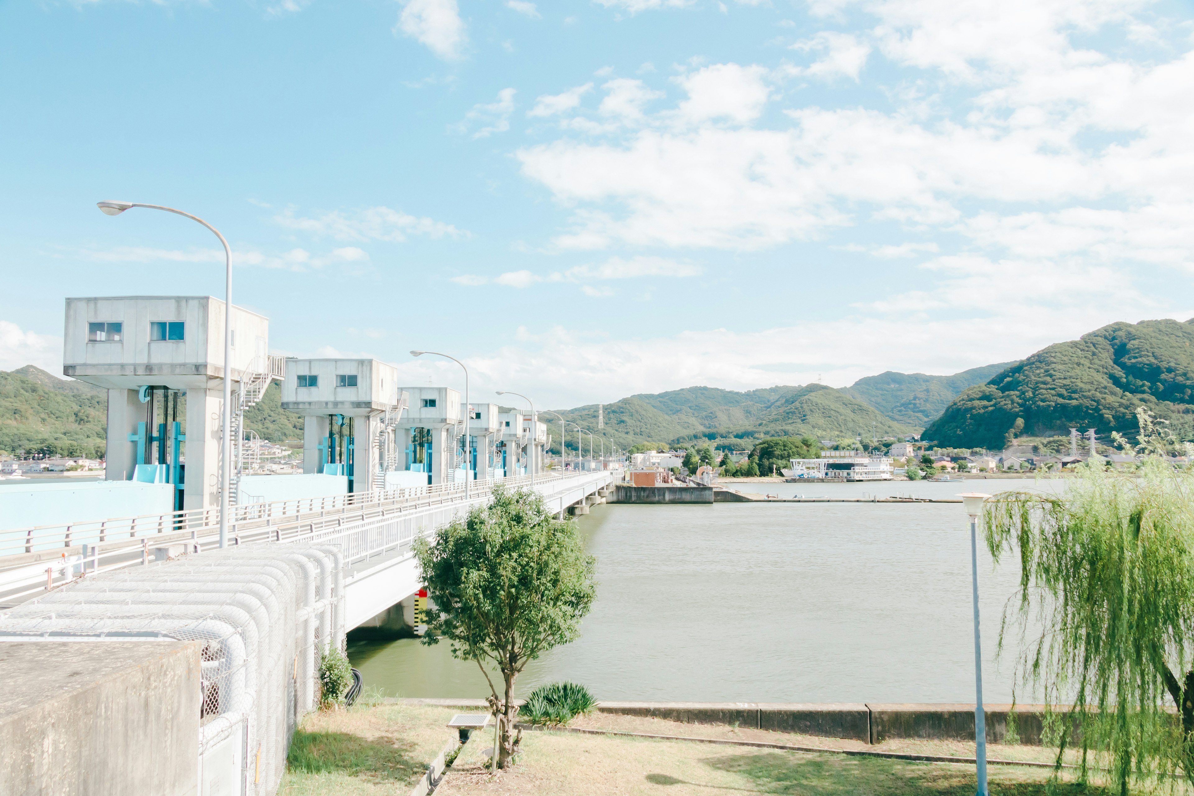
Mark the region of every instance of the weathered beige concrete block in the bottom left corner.
[[197, 794], [201, 647], [0, 643], [0, 794]]

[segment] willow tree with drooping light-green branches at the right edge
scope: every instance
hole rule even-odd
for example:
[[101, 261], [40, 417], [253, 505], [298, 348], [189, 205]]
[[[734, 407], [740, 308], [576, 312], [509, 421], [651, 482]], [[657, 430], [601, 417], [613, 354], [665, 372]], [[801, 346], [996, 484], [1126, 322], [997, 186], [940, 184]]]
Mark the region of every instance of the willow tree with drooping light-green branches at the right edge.
[[[1060, 710], [1060, 752], [1106, 755], [1115, 784], [1194, 782], [1194, 474], [1082, 468], [1063, 495], [1003, 493], [984, 512], [992, 556], [1018, 555], [1017, 674]], [[1175, 716], [1176, 712], [1176, 716]], [[1173, 780], [1170, 780], [1173, 782]]]

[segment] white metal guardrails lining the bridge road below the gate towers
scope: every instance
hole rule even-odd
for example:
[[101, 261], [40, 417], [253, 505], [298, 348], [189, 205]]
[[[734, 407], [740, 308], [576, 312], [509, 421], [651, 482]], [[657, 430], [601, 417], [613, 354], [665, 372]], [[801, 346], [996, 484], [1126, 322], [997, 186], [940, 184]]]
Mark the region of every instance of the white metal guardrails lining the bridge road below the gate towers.
[[[601, 480], [605, 475], [608, 474], [536, 475], [535, 485], [579, 479]], [[469, 502], [488, 496], [499, 487], [529, 485], [530, 476], [473, 481]], [[461, 482], [238, 506], [234, 519], [229, 523], [229, 541], [232, 544], [298, 539], [327, 542], [367, 532], [375, 526], [398, 527], [396, 520], [425, 514], [427, 510], [463, 505], [463, 495], [464, 485]], [[187, 525], [187, 522], [191, 524]], [[33, 531], [47, 533], [31, 535]], [[18, 539], [21, 545], [32, 539], [33, 547], [45, 544], [47, 548], [0, 557], [0, 606], [44, 593], [79, 575], [148, 563], [171, 555], [174, 545], [183, 545], [187, 553], [211, 549], [219, 541], [220, 525], [217, 510], [198, 510], [103, 523], [2, 531], [0, 539], [11, 533], [25, 535]], [[356, 561], [362, 555], [368, 559], [378, 550], [393, 549], [395, 544], [410, 544], [412, 539], [410, 533], [404, 538], [395, 537], [392, 531], [382, 532], [378, 538], [363, 542], [364, 547], [347, 544], [352, 550], [345, 550], [345, 559]], [[0, 549], [12, 549], [13, 544], [11, 539], [0, 541], [0, 545], [4, 545]]]

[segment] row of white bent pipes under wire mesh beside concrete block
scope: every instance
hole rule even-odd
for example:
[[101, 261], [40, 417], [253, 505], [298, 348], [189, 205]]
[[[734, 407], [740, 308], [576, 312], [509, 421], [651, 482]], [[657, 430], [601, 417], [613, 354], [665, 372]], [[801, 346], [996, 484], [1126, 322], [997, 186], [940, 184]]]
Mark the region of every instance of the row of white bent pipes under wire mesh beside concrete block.
[[320, 654], [343, 647], [343, 603], [337, 547], [242, 545], [88, 575], [0, 613], [0, 641], [203, 641], [201, 792], [269, 796]]

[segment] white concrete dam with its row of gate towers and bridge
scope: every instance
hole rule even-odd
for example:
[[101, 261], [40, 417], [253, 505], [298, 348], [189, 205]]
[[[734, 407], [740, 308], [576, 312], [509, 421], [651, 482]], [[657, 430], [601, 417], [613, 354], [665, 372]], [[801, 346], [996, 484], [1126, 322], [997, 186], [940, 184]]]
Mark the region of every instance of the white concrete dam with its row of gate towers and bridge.
[[[0, 526], [0, 660], [6, 644], [69, 641], [86, 668], [111, 642], [122, 655], [129, 642], [146, 655], [184, 643], [202, 704], [164, 720], [198, 739], [193, 767], [173, 772], [190, 783], [177, 792], [269, 796], [318, 705], [321, 656], [353, 628], [414, 623], [416, 539], [501, 488], [533, 488], [564, 516], [603, 501], [613, 475], [544, 471], [544, 424], [463, 407], [450, 388], [404, 387], [386, 363], [271, 357], [267, 320], [240, 308], [226, 369], [223, 311], [211, 297], [67, 301], [64, 371], [109, 391], [107, 482], [17, 487], [20, 516], [51, 522]], [[223, 378], [234, 439], [273, 381], [304, 436], [301, 475], [250, 475], [233, 457], [220, 548]], [[124, 502], [97, 499], [107, 493]], [[19, 689], [38, 673], [5, 675]]]

